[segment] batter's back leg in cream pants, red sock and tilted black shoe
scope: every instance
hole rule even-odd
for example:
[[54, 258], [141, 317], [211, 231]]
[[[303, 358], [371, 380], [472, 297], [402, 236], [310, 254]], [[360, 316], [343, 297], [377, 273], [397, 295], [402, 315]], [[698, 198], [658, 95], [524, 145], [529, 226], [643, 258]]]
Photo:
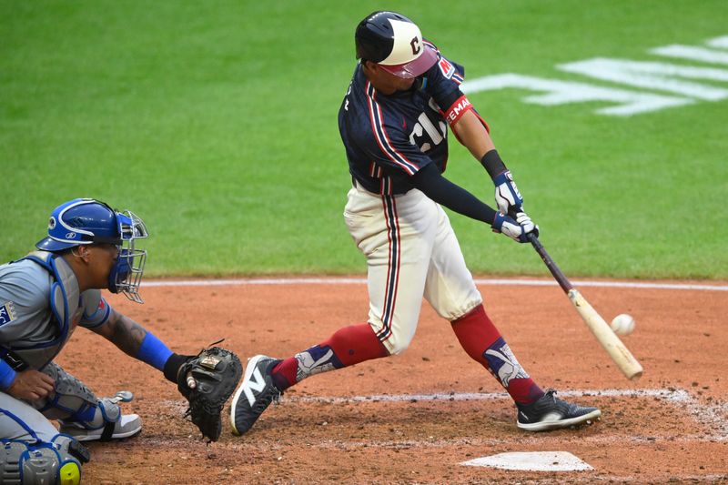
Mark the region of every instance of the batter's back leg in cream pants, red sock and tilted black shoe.
[[251, 358], [230, 407], [234, 433], [248, 432], [271, 402], [302, 379], [407, 349], [420, 318], [437, 210], [419, 190], [399, 197], [349, 191], [345, 217], [367, 257], [369, 322], [341, 328], [288, 359]]

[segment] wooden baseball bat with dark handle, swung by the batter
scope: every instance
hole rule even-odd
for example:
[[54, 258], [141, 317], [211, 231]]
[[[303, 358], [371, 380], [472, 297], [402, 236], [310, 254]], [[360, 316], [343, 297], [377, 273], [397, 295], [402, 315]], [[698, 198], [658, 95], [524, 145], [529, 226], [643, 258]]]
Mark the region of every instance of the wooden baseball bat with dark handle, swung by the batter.
[[597, 310], [591, 307], [586, 298], [581, 296], [579, 290], [571, 285], [569, 278], [564, 276], [561, 269], [556, 266], [556, 263], [549, 253], [546, 252], [546, 248], [543, 248], [539, 238], [531, 233], [529, 234], [529, 239], [533, 248], [536, 249], [536, 252], [539, 253], [539, 256], [541, 256], [541, 259], [546, 264], [546, 268], [549, 268], [553, 278], [556, 279], [561, 289], [563, 289], [564, 293], [569, 297], [569, 300], [571, 300], [571, 304], [576, 308], [581, 319], [584, 320], [586, 326], [589, 327], [597, 341], [602, 344], [602, 347], [607, 351], [614, 363], [617, 364], [617, 367], [622, 370], [622, 374], [627, 379], [639, 379], [642, 376], [642, 365], [640, 362], [634, 359], [629, 349], [624, 347], [622, 340], [617, 337], [612, 331], [612, 328], [604, 321], [604, 318], [597, 313]]

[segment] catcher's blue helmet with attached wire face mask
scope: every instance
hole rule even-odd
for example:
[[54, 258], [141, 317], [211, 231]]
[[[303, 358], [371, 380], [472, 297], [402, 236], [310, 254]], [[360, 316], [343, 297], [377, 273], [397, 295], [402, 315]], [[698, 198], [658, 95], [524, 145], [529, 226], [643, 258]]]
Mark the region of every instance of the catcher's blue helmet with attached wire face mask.
[[139, 284], [147, 251], [137, 249], [135, 241], [147, 236], [147, 227], [133, 212], [118, 211], [93, 198], [76, 198], [54, 209], [48, 220], [48, 237], [35, 247], [56, 252], [81, 245], [115, 245], [119, 255], [108, 276], [108, 290], [144, 303]]

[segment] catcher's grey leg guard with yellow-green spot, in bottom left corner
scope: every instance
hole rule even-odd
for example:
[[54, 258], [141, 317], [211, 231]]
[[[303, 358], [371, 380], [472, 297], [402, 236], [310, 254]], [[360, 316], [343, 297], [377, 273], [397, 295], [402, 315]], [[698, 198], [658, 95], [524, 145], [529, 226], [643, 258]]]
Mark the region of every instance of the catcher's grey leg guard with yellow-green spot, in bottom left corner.
[[49, 443], [2, 440], [0, 483], [77, 485], [81, 464], [89, 458], [88, 450], [67, 436], [56, 435]]

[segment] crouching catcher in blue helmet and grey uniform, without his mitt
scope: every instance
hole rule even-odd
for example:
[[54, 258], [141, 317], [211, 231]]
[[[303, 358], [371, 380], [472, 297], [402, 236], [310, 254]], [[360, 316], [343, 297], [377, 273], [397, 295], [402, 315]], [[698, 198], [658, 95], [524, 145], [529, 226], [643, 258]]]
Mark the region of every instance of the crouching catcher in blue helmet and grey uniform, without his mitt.
[[147, 228], [133, 213], [79, 198], [56, 207], [37, 251], [0, 266], [0, 483], [78, 483], [89, 460], [79, 441], [128, 438], [142, 429], [141, 419], [119, 406], [130, 392], [99, 399], [54, 362], [76, 327], [177, 383], [190, 357], [167, 349], [100, 292], [142, 302], [147, 253], [136, 241], [144, 237]]

